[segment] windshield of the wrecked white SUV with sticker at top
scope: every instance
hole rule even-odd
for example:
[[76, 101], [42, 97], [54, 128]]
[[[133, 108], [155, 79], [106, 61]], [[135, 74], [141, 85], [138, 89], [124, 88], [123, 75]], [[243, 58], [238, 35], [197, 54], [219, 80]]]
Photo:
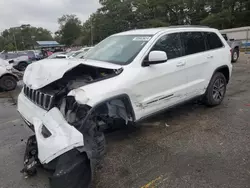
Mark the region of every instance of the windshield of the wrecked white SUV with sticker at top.
[[85, 58], [127, 65], [134, 60], [151, 37], [151, 35], [111, 36], [89, 51]]

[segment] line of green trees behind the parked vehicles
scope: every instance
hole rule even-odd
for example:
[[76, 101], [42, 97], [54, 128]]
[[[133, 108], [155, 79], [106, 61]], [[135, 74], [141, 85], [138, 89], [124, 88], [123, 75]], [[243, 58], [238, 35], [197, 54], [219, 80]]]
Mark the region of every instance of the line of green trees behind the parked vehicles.
[[[188, 24], [226, 29], [250, 25], [250, 0], [99, 0], [99, 2], [101, 7], [85, 22], [76, 15], [60, 17], [59, 29], [55, 32], [54, 39], [67, 46], [93, 45], [111, 34], [138, 28]], [[30, 47], [34, 38], [52, 39], [51, 33], [46, 29], [34, 27], [25, 29], [5, 30], [0, 36], [0, 49], [2, 46], [7, 49], [15, 46], [11, 35], [14, 31], [17, 33], [18, 48]], [[35, 37], [32, 39], [31, 35]], [[27, 42], [24, 43], [22, 39]]]

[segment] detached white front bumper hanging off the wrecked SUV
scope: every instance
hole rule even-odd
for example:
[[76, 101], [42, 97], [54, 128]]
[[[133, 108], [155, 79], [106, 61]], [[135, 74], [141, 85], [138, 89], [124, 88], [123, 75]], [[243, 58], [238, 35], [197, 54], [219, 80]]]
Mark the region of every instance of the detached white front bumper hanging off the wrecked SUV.
[[[48, 164], [63, 153], [84, 146], [83, 135], [67, 123], [58, 108], [43, 110], [21, 92], [18, 96], [17, 110], [35, 131], [38, 159], [41, 164]], [[45, 136], [42, 132], [44, 129], [50, 134]]]

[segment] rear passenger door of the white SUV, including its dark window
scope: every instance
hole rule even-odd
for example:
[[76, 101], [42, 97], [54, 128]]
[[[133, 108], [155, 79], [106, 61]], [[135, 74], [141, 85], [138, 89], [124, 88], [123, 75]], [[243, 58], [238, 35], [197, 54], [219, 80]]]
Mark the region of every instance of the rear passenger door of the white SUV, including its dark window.
[[206, 89], [212, 57], [207, 51], [205, 37], [203, 32], [181, 33], [188, 80], [187, 98], [201, 95]]

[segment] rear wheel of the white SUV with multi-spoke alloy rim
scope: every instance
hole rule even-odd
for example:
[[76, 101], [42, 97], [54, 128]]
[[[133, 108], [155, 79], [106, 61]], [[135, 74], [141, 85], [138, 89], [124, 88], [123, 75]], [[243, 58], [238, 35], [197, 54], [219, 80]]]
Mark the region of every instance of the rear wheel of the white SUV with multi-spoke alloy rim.
[[205, 104], [211, 107], [221, 104], [225, 97], [226, 88], [227, 81], [225, 76], [220, 72], [216, 72], [208, 85], [205, 94]]

